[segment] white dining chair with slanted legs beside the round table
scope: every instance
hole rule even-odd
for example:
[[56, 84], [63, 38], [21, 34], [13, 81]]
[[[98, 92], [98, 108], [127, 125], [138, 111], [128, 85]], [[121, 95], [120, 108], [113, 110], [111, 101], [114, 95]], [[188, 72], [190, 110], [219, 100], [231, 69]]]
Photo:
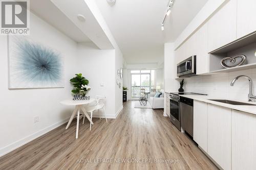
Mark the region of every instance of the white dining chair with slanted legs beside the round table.
[[[93, 111], [95, 111], [95, 110], [98, 110], [99, 118], [101, 119], [100, 109], [103, 109], [104, 115], [105, 115], [105, 118], [106, 118], [105, 107], [104, 107], [105, 100], [106, 100], [105, 96], [96, 95], [96, 101], [85, 106], [86, 111], [91, 113], [91, 122], [92, 122], [92, 118], [93, 118]], [[84, 124], [84, 118], [85, 118], [85, 115], [83, 115], [82, 124]], [[108, 123], [108, 119], [106, 119], [106, 122]], [[92, 123], [90, 123], [90, 130], [91, 129], [92, 129]]]

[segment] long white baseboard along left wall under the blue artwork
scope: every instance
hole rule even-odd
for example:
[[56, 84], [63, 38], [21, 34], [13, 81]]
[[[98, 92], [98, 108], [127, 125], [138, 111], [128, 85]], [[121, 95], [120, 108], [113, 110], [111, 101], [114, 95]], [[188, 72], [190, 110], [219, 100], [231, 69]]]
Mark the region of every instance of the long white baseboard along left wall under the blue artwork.
[[32, 141], [32, 140], [38, 138], [38, 137], [40, 137], [40, 136], [42, 136], [42, 135], [44, 135], [44, 134], [50, 132], [51, 130], [53, 130], [53, 129], [55, 129], [55, 128], [57, 128], [57, 127], [59, 127], [59, 126], [65, 124], [65, 123], [67, 123], [68, 120], [69, 120], [69, 118], [70, 118], [70, 117], [68, 117], [68, 118], [66, 118], [66, 119], [64, 119], [64, 120], [62, 120], [61, 122], [58, 122], [58, 123], [56, 123], [56, 124], [53, 124], [53, 125], [51, 125], [51, 126], [45, 128], [45, 129], [42, 129], [42, 130], [40, 130], [40, 131], [38, 131], [38, 132], [36, 132], [36, 133], [34, 133], [34, 134], [32, 134], [32, 135], [29, 135], [29, 136], [27, 136], [27, 137], [25, 137], [25, 138], [23, 138], [23, 139], [20, 139], [20, 140], [18, 140], [18, 141], [16, 141], [16, 142], [13, 142], [13, 143], [7, 145], [7, 146], [4, 147], [4, 148], [1, 148], [1, 149], [0, 149], [0, 157], [1, 157], [1, 156], [4, 156], [5, 154], [8, 154], [9, 152], [11, 152], [11, 151], [13, 151], [13, 150], [15, 150], [15, 149], [17, 149], [17, 148], [19, 148], [19, 147], [22, 147], [24, 144], [26, 144], [26, 143], [28, 143], [28, 142], [30, 142], [30, 141]]

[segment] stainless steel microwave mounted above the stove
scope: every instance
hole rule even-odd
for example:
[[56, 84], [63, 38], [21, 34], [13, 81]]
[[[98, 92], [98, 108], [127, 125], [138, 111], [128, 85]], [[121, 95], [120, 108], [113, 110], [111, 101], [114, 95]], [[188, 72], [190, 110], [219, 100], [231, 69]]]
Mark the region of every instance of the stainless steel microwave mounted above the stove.
[[197, 56], [191, 56], [177, 64], [177, 77], [196, 75]]

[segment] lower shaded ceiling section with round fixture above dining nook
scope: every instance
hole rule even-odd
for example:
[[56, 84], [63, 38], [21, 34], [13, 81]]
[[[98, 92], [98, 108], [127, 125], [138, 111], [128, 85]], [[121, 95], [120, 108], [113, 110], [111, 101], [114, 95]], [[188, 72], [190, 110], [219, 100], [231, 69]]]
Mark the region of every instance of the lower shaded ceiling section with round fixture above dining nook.
[[[76, 42], [90, 42], [91, 40], [74, 25], [74, 23], [63, 14], [49, 0], [31, 0], [30, 9], [40, 18], [50, 23], [63, 34], [66, 34]], [[47, 12], [46, 12], [47, 9]]]

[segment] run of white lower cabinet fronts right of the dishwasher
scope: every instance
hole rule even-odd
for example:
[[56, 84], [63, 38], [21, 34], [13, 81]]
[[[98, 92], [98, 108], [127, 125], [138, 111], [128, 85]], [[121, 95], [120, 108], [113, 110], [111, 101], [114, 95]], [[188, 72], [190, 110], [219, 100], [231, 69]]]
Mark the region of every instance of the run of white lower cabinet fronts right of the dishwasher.
[[256, 169], [256, 115], [194, 100], [194, 140], [225, 170]]

